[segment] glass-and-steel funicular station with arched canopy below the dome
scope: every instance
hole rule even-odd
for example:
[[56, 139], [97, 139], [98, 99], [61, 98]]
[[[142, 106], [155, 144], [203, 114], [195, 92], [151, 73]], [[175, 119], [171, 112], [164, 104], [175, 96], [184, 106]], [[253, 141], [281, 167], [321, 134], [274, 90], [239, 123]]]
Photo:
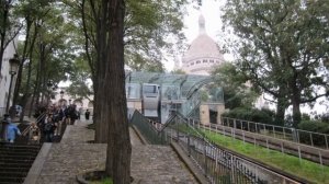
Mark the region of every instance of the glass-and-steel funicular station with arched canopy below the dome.
[[161, 124], [171, 111], [202, 124], [219, 123], [225, 108], [223, 90], [208, 76], [127, 72], [126, 96], [128, 116], [137, 110]]

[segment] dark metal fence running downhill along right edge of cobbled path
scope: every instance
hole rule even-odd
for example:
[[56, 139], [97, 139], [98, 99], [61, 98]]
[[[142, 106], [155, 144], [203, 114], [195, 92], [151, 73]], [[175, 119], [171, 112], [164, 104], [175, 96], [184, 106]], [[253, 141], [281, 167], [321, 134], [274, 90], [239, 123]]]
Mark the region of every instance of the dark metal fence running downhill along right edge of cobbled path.
[[209, 183], [299, 183], [212, 143], [200, 130], [191, 126], [191, 120], [180, 114], [174, 113], [171, 117], [163, 128], [162, 124], [149, 120], [135, 112], [132, 124], [150, 143], [167, 145], [177, 141]]

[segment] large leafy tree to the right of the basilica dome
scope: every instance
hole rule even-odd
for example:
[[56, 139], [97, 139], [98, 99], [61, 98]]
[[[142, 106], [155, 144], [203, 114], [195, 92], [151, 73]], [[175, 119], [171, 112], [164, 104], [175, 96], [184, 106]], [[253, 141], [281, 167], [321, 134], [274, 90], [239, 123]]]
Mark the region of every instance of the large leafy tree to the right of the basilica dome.
[[[293, 104], [294, 126], [299, 105], [328, 95], [328, 1], [228, 0], [224, 8], [226, 28], [238, 36], [231, 49], [238, 67], [250, 81]], [[322, 92], [324, 89], [325, 92]]]

